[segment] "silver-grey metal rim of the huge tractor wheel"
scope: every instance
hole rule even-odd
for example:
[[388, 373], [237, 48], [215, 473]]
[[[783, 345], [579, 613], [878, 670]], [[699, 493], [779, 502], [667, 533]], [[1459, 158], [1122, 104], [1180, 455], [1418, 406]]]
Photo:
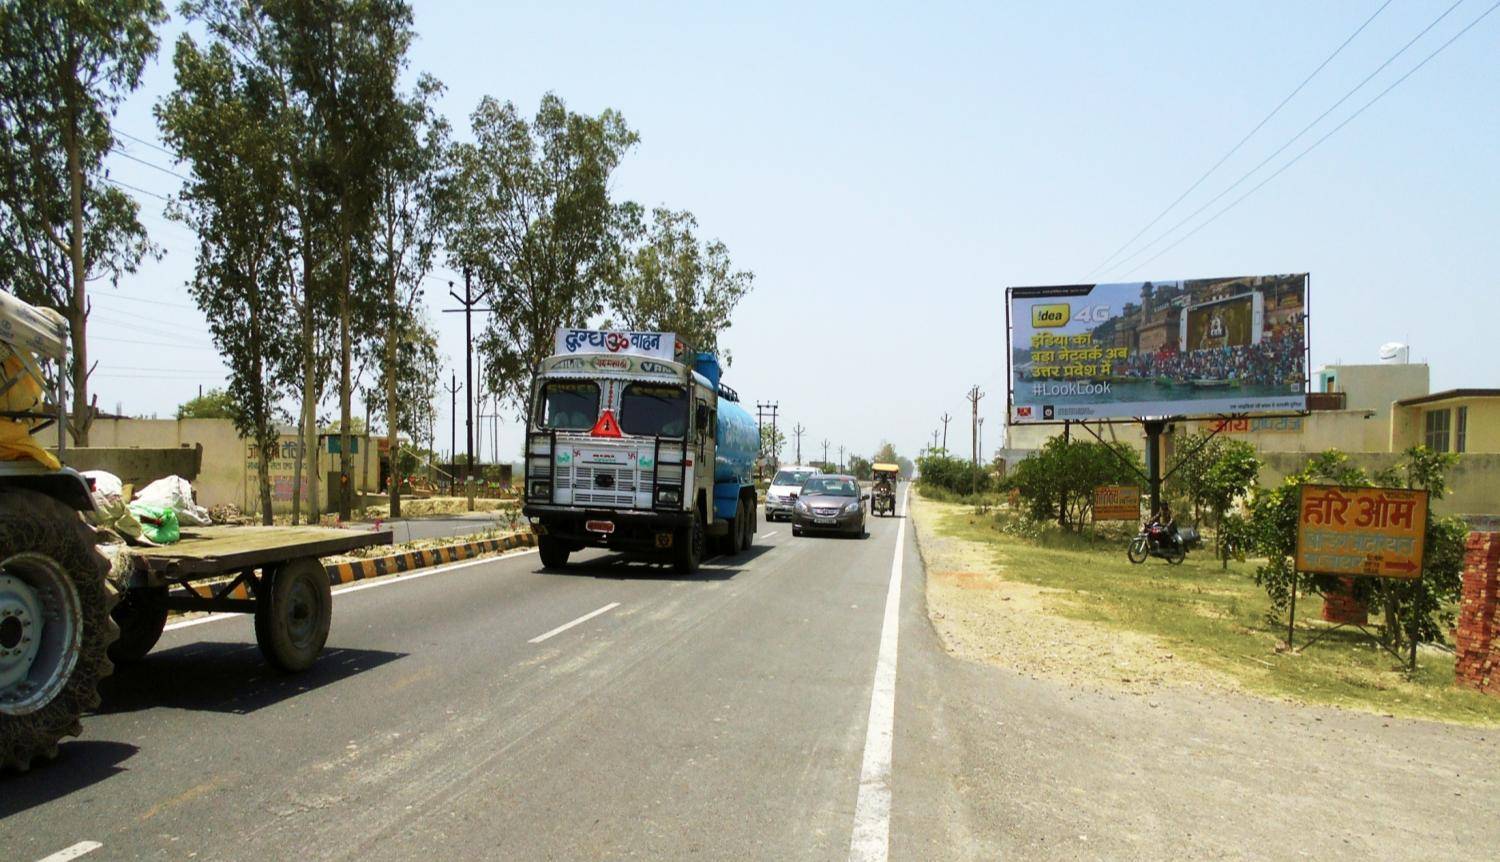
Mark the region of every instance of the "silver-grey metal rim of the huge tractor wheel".
[[40, 553], [0, 564], [0, 715], [28, 715], [68, 684], [82, 642], [78, 591]]

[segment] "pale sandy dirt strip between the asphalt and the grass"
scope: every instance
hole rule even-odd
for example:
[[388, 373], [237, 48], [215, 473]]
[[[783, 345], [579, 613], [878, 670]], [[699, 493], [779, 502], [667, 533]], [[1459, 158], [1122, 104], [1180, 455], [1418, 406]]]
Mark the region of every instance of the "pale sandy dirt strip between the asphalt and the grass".
[[927, 609], [944, 648], [1034, 678], [1150, 693], [1166, 685], [1238, 690], [1158, 639], [1070, 619], [1066, 592], [1005, 579], [1005, 564], [978, 541], [944, 535], [939, 516], [966, 507], [912, 495], [912, 525], [927, 567]]

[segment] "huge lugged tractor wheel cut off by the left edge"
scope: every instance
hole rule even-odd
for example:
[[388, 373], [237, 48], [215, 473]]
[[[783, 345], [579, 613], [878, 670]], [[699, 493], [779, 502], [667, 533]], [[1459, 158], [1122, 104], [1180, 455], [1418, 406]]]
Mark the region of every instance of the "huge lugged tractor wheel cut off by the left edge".
[[114, 670], [110, 564], [93, 528], [33, 490], [0, 492], [0, 769], [57, 756]]

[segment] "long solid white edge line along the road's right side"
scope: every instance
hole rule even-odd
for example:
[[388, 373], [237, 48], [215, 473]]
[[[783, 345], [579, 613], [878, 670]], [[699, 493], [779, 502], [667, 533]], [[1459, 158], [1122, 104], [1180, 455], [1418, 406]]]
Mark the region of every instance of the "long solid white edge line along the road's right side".
[[[902, 495], [902, 511], [906, 498]], [[891, 559], [891, 585], [885, 591], [885, 622], [880, 624], [880, 652], [874, 663], [874, 688], [870, 691], [870, 724], [864, 735], [864, 765], [860, 768], [860, 798], [854, 807], [854, 835], [849, 859], [885, 862], [891, 847], [891, 739], [896, 727], [896, 639], [902, 618], [902, 553], [906, 550], [906, 522], [896, 528], [896, 556]]]

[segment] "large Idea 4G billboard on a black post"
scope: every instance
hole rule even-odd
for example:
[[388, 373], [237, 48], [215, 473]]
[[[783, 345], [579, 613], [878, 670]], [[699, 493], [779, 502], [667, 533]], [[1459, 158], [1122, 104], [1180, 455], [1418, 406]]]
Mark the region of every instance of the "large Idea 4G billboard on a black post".
[[1010, 288], [1010, 421], [1306, 411], [1306, 273]]

